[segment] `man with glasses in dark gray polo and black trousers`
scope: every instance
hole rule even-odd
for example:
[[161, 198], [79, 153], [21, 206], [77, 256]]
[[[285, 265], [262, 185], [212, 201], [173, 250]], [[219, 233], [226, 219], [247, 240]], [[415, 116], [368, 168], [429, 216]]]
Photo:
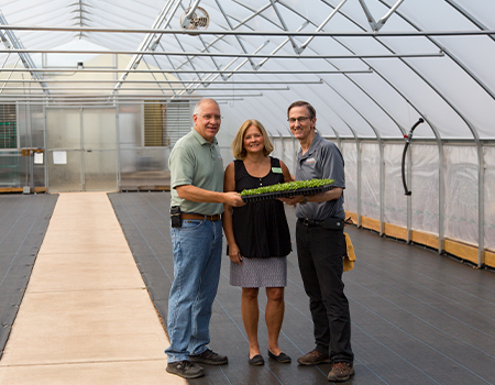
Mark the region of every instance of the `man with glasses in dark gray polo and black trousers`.
[[283, 199], [297, 204], [297, 256], [315, 323], [316, 348], [297, 362], [300, 365], [330, 362], [328, 380], [344, 382], [354, 374], [351, 316], [342, 283], [344, 162], [339, 148], [315, 131], [316, 111], [310, 103], [295, 101], [287, 117], [290, 132], [300, 143], [296, 180], [334, 179], [333, 189], [327, 193]]

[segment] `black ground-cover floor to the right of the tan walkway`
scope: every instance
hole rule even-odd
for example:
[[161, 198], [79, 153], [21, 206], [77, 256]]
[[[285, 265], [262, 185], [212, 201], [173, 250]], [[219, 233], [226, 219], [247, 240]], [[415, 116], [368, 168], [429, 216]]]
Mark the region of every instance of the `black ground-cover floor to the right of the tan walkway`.
[[[173, 279], [169, 193], [110, 194], [117, 216], [153, 301], [166, 320]], [[295, 210], [286, 207], [295, 248]], [[350, 384], [494, 384], [495, 276], [430, 250], [354, 226], [345, 227], [355, 267], [344, 273], [351, 307], [355, 376]], [[223, 366], [205, 365], [207, 375], [190, 384], [328, 384], [330, 365], [299, 366], [312, 350], [309, 300], [296, 253], [288, 258], [285, 317], [279, 346], [293, 358], [267, 358], [266, 295], [260, 289], [258, 340], [264, 366], [250, 366], [241, 317], [241, 289], [229, 283], [223, 254], [210, 323], [210, 346], [229, 356]]]

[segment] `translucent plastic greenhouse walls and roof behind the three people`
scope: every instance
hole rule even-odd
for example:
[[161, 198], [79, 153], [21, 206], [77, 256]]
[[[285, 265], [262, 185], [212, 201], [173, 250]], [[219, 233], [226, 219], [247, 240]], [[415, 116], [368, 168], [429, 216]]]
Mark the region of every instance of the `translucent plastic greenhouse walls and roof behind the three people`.
[[[287, 107], [307, 100], [344, 156], [359, 227], [495, 266], [493, 0], [0, 0], [0, 188], [162, 185], [204, 97], [221, 107], [224, 165], [257, 119], [294, 170]], [[61, 151], [72, 172], [88, 167], [70, 188], [51, 168]]]

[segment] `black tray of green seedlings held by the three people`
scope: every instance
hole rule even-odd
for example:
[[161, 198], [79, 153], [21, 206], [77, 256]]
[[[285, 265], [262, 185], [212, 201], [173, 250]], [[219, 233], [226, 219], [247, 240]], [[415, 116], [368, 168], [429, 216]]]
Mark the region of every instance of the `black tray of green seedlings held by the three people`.
[[271, 186], [263, 186], [243, 190], [240, 196], [244, 202], [255, 202], [277, 198], [290, 198], [297, 195], [315, 195], [331, 190], [333, 179], [308, 179], [287, 182]]

